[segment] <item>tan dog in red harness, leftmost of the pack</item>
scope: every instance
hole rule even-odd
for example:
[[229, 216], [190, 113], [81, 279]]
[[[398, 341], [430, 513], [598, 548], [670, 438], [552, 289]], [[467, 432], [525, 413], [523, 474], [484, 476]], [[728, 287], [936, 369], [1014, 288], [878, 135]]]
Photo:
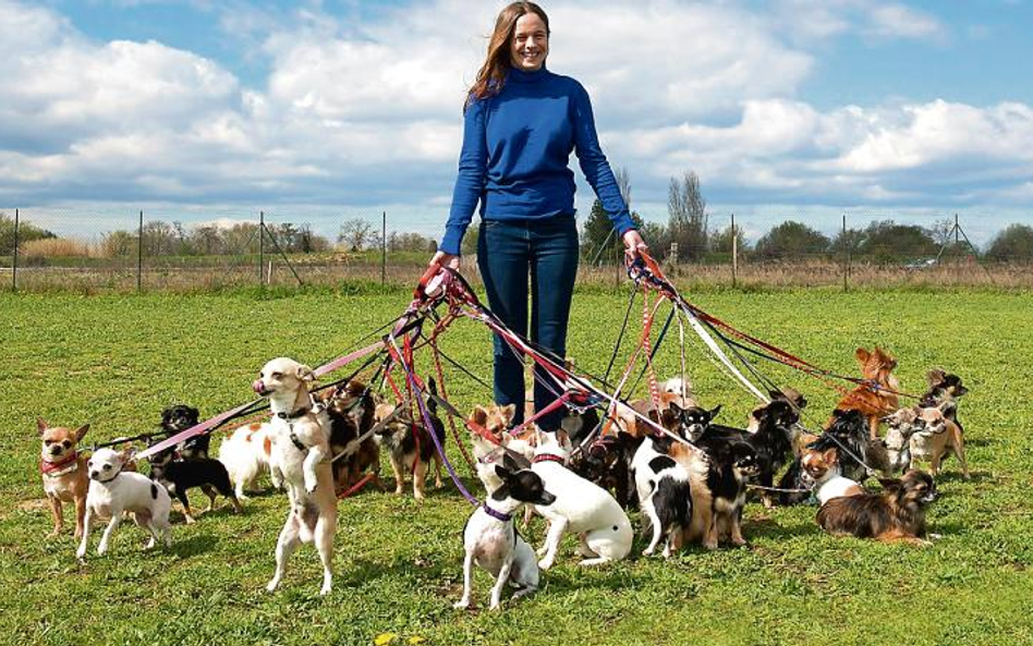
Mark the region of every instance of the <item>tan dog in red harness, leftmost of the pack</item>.
[[83, 536], [83, 519], [86, 515], [86, 491], [89, 489], [89, 476], [86, 471], [86, 456], [78, 452], [89, 425], [84, 424], [75, 430], [63, 426], [48, 426], [42, 419], [36, 419], [39, 431], [39, 474], [42, 477], [44, 492], [50, 503], [53, 515], [53, 531], [47, 538], [53, 538], [64, 528], [62, 502], [75, 505], [76, 540]]

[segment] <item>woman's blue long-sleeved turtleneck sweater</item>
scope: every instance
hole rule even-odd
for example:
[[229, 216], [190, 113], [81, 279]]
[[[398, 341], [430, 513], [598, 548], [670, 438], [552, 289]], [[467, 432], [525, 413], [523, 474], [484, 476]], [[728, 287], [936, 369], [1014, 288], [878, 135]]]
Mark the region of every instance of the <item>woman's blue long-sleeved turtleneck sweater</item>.
[[502, 89], [466, 107], [459, 176], [440, 251], [459, 255], [477, 202], [488, 220], [574, 214], [571, 151], [619, 234], [634, 229], [599, 147], [588, 93], [544, 66], [510, 70]]

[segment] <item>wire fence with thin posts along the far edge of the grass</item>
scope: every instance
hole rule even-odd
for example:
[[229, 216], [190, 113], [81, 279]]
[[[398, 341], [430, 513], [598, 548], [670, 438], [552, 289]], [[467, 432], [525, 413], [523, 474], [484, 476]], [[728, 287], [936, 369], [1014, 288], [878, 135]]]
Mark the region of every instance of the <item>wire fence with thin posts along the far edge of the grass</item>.
[[[210, 216], [210, 217], [209, 217]], [[413, 227], [387, 212], [313, 224], [278, 212], [211, 212], [182, 223], [174, 212], [124, 217], [81, 210], [0, 209], [0, 287], [45, 291], [204, 291], [233, 287], [411, 284], [443, 222]], [[463, 242], [464, 273], [477, 281], [477, 227]], [[804, 218], [774, 224], [709, 216], [708, 228], [671, 232], [647, 222], [654, 256], [680, 282], [729, 287], [1033, 287], [1033, 228], [1005, 224], [973, 243], [963, 218], [843, 215], [836, 231]], [[580, 281], [620, 285], [616, 236], [583, 236]]]

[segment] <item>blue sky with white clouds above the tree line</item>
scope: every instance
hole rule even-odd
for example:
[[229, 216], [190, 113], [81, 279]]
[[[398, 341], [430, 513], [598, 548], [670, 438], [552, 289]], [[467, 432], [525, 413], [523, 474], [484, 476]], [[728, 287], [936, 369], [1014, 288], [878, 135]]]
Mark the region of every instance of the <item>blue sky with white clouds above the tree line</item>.
[[[587, 88], [646, 220], [694, 171], [712, 226], [752, 239], [1033, 223], [1033, 0], [542, 4], [548, 68]], [[0, 210], [59, 234], [262, 210], [331, 237], [387, 211], [437, 236], [503, 5], [0, 0]]]

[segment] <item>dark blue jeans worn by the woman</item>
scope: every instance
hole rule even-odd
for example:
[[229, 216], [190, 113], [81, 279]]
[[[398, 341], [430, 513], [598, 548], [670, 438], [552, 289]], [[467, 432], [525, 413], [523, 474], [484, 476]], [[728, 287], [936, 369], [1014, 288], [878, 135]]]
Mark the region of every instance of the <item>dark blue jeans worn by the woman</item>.
[[[485, 220], [477, 239], [477, 266], [488, 306], [506, 326], [527, 338], [527, 275], [531, 275], [531, 340], [558, 356], [567, 355], [567, 322], [578, 277], [578, 227], [573, 215], [544, 220]], [[534, 407], [556, 400], [555, 381], [535, 366]], [[495, 337], [495, 403], [515, 404], [514, 423], [524, 419], [524, 370], [519, 357]], [[556, 430], [564, 409], [537, 420]]]

